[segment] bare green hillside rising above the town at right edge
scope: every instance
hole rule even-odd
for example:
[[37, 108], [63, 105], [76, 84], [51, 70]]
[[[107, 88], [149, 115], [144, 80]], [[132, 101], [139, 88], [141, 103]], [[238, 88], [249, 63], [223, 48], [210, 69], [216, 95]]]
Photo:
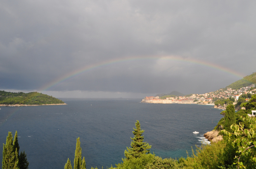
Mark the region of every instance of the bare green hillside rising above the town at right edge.
[[226, 88], [232, 88], [233, 90], [238, 90], [242, 87], [250, 86], [255, 83], [256, 83], [256, 72], [251, 75], [245, 76], [243, 79], [240, 79], [232, 83], [231, 85], [228, 85]]

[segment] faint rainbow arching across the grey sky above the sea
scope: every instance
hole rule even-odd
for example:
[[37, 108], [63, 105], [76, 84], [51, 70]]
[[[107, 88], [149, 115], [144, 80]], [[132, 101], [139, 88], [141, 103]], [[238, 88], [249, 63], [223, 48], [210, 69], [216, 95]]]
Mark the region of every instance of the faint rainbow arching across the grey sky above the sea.
[[116, 59], [111, 59], [111, 60], [107, 60], [107, 61], [103, 61], [100, 63], [95, 63], [89, 66], [85, 66], [83, 68], [80, 69], [76, 69], [70, 73], [64, 74], [63, 76], [61, 76], [60, 78], [55, 79], [54, 81], [51, 81], [50, 83], [44, 85], [43, 87], [41, 87], [39, 89], [39, 91], [47, 91], [50, 88], [62, 83], [63, 81], [66, 81], [67, 79], [73, 78], [74, 76], [78, 76], [82, 73], [85, 73], [86, 71], [92, 70], [92, 69], [97, 69], [103, 66], [109, 66], [112, 64], [118, 64], [118, 63], [124, 63], [124, 62], [129, 62], [129, 61], [139, 61], [139, 60], [169, 60], [169, 61], [180, 61], [180, 62], [185, 62], [185, 63], [191, 63], [191, 64], [197, 64], [197, 65], [201, 65], [201, 66], [206, 66], [209, 68], [213, 68], [213, 69], [217, 69], [219, 71], [222, 71], [224, 73], [227, 74], [232, 74], [234, 76], [239, 77], [240, 79], [242, 79], [244, 77], [244, 75], [232, 70], [232, 69], [228, 69], [225, 67], [221, 67], [217, 64], [213, 64], [213, 63], [209, 63], [209, 62], [205, 62], [202, 60], [198, 60], [198, 59], [192, 59], [192, 58], [183, 58], [183, 57], [178, 57], [178, 56], [139, 56], [139, 57], [125, 57], [125, 58], [116, 58]]

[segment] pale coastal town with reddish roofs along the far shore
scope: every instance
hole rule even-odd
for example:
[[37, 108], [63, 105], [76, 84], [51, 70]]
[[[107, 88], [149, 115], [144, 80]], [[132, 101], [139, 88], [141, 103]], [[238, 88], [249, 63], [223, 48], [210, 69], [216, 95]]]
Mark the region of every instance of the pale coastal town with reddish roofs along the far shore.
[[[187, 96], [171, 96], [171, 97], [159, 97], [150, 96], [142, 99], [141, 103], [180, 103], [180, 104], [202, 104], [202, 105], [215, 105], [214, 102], [220, 99], [234, 98], [234, 105], [236, 104], [239, 96], [242, 94], [254, 94], [256, 93], [255, 84], [242, 87], [239, 90], [232, 90], [231, 88], [220, 89], [217, 91], [204, 93], [204, 94], [190, 94]], [[246, 99], [248, 101], [248, 99]], [[218, 105], [215, 105], [216, 108]]]

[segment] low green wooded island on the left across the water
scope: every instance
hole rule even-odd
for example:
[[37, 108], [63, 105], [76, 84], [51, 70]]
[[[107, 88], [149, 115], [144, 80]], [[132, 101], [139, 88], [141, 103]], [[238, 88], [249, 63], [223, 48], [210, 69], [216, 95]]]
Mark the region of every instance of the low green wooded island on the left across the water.
[[0, 104], [2, 105], [46, 105], [64, 104], [62, 100], [38, 92], [13, 93], [0, 90]]

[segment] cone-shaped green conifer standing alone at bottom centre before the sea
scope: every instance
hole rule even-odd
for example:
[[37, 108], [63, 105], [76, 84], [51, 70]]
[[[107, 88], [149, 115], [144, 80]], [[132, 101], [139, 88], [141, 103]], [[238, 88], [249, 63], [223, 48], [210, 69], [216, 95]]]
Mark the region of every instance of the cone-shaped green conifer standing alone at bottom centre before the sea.
[[125, 150], [125, 157], [126, 159], [123, 159], [123, 161], [125, 160], [129, 160], [130, 158], [138, 158], [140, 157], [142, 154], [146, 154], [148, 152], [150, 152], [150, 148], [151, 145], [149, 145], [147, 142], [143, 142], [144, 140], [144, 135], [142, 136], [142, 133], [144, 132], [144, 130], [140, 129], [140, 122], [137, 120], [137, 122], [135, 123], [136, 128], [133, 128], [133, 134], [134, 137], [131, 138], [131, 147], [126, 147], [127, 150]]

